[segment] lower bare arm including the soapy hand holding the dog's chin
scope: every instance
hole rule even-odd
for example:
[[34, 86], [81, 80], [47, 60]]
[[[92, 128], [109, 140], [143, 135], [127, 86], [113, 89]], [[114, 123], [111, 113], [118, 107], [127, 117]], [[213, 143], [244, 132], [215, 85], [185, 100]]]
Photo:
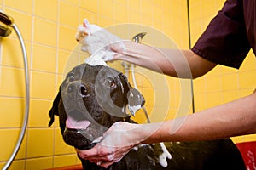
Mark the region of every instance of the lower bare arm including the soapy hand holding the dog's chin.
[[104, 134], [104, 139], [93, 149], [77, 151], [82, 158], [100, 161], [102, 167], [108, 167], [137, 144], [223, 139], [256, 133], [255, 117], [254, 91], [253, 94], [230, 103], [166, 122], [140, 125], [118, 122], [110, 127]]

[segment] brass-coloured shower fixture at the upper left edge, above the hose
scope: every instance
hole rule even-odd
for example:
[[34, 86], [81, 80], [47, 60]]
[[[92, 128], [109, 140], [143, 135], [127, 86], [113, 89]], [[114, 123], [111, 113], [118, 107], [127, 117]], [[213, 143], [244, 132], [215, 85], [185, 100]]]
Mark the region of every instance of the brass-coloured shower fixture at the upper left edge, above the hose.
[[0, 10], [0, 37], [7, 37], [12, 32], [14, 19]]

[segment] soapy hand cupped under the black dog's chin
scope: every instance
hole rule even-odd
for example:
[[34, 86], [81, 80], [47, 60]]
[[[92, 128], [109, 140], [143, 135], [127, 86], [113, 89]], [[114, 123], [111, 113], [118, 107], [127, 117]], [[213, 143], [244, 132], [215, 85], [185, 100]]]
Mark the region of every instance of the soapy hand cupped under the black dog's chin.
[[77, 150], [84, 160], [96, 163], [98, 166], [107, 168], [114, 162], [120, 161], [141, 139], [133, 130], [139, 124], [128, 122], [116, 122], [108, 129], [101, 140], [90, 150]]

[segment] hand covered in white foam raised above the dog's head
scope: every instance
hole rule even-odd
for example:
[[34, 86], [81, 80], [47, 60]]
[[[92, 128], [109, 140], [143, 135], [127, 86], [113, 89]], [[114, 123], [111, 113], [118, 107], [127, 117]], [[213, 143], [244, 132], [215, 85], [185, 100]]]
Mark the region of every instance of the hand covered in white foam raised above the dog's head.
[[112, 50], [112, 45], [116, 51], [125, 51], [125, 45], [119, 37], [100, 26], [90, 24], [87, 19], [84, 19], [83, 25], [78, 27], [76, 40], [82, 45], [82, 51], [89, 54], [96, 53], [104, 61], [113, 60], [116, 52]]

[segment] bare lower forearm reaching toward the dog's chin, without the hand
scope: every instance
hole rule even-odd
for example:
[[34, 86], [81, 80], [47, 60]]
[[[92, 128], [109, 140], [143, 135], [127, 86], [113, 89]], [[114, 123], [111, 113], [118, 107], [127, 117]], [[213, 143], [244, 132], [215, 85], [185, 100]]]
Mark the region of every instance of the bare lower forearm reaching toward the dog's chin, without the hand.
[[142, 125], [142, 143], [195, 141], [256, 133], [256, 94], [167, 122]]

